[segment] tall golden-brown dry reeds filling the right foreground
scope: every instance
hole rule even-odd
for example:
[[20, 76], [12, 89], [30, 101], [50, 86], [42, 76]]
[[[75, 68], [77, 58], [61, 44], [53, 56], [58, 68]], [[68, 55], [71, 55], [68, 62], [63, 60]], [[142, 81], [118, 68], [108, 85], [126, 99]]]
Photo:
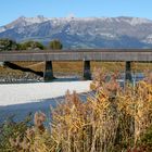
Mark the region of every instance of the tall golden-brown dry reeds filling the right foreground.
[[50, 127], [46, 115], [35, 114], [35, 125], [22, 136], [10, 138], [8, 151], [21, 152], [151, 152], [152, 73], [136, 87], [116, 81], [118, 74], [96, 69], [91, 88], [94, 97], [83, 102], [67, 91], [64, 103], [51, 107]]

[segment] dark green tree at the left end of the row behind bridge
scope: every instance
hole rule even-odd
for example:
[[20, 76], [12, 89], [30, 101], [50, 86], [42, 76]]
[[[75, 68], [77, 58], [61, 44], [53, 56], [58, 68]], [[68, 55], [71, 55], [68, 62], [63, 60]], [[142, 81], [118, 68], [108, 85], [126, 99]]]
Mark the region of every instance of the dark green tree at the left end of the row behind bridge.
[[0, 51], [18, 50], [18, 45], [16, 41], [3, 38], [0, 39]]

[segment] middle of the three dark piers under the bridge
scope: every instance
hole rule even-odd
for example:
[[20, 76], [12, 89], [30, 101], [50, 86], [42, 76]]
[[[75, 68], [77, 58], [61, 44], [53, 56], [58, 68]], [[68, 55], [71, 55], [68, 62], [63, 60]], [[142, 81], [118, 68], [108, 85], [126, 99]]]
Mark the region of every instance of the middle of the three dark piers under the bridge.
[[91, 79], [90, 61], [84, 61], [84, 79]]

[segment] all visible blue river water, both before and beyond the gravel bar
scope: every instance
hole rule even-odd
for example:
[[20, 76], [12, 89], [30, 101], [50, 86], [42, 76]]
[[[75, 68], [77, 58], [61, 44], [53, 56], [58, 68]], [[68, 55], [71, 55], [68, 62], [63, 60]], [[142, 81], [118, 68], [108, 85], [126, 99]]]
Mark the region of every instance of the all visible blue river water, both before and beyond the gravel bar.
[[[124, 86], [124, 78], [125, 78], [125, 74], [122, 74], [118, 81], [121, 84], [121, 86]], [[143, 79], [144, 75], [142, 73], [136, 73], [132, 74], [132, 83], [134, 85]], [[78, 77], [71, 77], [71, 78], [59, 78], [59, 79], [54, 79], [53, 81], [75, 81], [78, 80]], [[88, 93], [81, 93], [80, 94], [80, 99], [83, 99], [84, 101], [86, 101], [88, 97]], [[2, 100], [2, 99], [1, 99]], [[59, 97], [55, 99], [47, 99], [47, 100], [41, 100], [39, 102], [35, 102], [35, 103], [25, 103], [25, 104], [16, 104], [16, 105], [9, 105], [9, 106], [0, 106], [0, 123], [3, 122], [4, 119], [7, 119], [9, 116], [14, 115], [14, 119], [15, 121], [23, 121], [23, 118], [28, 114], [28, 113], [34, 113], [37, 111], [41, 111], [43, 113], [47, 114], [48, 117], [51, 117], [51, 113], [50, 113], [50, 105], [55, 107], [58, 105], [58, 102], [63, 102], [64, 101], [64, 97]], [[49, 121], [48, 121], [49, 122]]]

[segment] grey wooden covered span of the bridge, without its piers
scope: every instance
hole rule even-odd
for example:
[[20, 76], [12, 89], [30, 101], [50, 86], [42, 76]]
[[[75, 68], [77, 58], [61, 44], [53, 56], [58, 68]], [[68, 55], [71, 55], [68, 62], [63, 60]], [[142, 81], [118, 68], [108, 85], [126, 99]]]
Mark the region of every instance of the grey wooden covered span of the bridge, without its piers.
[[4, 61], [139, 61], [151, 62], [152, 49], [81, 49], [0, 52]]

